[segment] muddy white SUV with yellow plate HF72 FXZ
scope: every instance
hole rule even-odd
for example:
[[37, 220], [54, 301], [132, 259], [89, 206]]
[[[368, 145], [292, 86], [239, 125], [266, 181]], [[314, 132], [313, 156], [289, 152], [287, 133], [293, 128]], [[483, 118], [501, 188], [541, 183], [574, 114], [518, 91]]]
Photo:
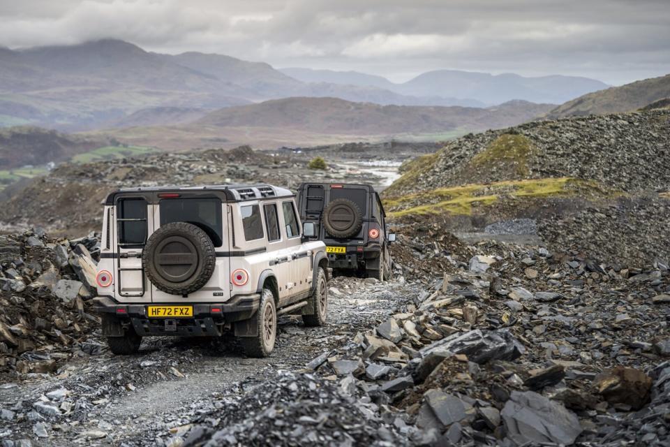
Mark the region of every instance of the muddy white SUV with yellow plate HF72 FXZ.
[[104, 202], [96, 312], [112, 352], [149, 335], [239, 337], [274, 348], [277, 316], [327, 314], [325, 244], [271, 185], [121, 189]]

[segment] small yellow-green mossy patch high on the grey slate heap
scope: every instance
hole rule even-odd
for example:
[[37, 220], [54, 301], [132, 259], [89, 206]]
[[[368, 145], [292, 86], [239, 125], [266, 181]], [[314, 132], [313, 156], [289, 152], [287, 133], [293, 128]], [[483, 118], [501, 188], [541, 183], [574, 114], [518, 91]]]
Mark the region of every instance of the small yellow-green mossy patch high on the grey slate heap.
[[525, 177], [530, 173], [528, 159], [535, 153], [537, 149], [526, 136], [504, 133], [489, 143], [484, 152], [472, 157], [470, 166], [475, 169], [507, 169], [519, 177]]

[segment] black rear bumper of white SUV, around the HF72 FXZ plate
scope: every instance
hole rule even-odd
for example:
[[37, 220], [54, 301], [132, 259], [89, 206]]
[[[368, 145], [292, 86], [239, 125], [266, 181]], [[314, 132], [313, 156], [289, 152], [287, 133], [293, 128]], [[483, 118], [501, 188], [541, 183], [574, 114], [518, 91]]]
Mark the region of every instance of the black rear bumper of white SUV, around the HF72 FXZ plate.
[[[110, 297], [94, 298], [94, 311], [103, 317], [103, 335], [123, 335], [133, 327], [137, 335], [184, 335], [190, 337], [221, 335], [225, 323], [251, 318], [260, 306], [260, 294], [237, 295], [222, 303], [161, 302], [128, 304]], [[149, 318], [147, 306], [193, 306], [193, 316], [185, 318]]]

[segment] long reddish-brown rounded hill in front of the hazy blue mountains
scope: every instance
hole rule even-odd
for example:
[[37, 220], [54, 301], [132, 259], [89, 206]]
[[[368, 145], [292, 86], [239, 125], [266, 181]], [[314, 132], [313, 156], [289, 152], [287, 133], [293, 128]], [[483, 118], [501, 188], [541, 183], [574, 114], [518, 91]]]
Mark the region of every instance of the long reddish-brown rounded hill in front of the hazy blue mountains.
[[177, 126], [110, 129], [90, 135], [161, 149], [236, 147], [263, 149], [357, 140], [445, 140], [469, 131], [526, 122], [553, 108], [511, 101], [493, 108], [378, 105], [339, 98], [283, 98], [221, 108]]

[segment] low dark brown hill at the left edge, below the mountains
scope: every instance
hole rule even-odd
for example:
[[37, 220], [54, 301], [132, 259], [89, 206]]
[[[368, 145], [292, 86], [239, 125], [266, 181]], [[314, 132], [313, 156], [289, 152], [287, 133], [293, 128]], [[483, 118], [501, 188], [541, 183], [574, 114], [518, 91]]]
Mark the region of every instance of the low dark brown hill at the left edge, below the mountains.
[[63, 161], [107, 143], [105, 138], [84, 138], [37, 127], [0, 129], [0, 169]]

